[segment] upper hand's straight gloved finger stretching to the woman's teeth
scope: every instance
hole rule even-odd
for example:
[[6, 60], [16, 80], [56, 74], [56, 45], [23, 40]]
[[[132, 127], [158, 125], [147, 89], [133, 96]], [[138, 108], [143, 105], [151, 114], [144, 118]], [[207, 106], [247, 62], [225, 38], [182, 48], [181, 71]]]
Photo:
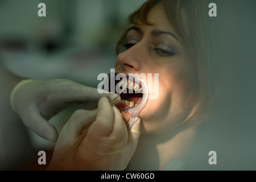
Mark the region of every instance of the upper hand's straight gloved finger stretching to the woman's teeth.
[[107, 97], [109, 101], [114, 100], [118, 94], [115, 93], [98, 93], [96, 88], [81, 84], [63, 85], [58, 93], [50, 93], [48, 100], [56, 107], [80, 104], [81, 102], [98, 102], [101, 97]]

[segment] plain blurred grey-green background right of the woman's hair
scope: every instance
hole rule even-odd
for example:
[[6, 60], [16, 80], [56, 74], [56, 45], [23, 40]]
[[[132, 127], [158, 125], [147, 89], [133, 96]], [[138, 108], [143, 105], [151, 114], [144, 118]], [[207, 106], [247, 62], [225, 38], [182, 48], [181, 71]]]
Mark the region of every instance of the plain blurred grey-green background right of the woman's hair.
[[[215, 0], [213, 121], [188, 156], [189, 169], [256, 170], [256, 1]], [[209, 151], [217, 164], [209, 165]]]

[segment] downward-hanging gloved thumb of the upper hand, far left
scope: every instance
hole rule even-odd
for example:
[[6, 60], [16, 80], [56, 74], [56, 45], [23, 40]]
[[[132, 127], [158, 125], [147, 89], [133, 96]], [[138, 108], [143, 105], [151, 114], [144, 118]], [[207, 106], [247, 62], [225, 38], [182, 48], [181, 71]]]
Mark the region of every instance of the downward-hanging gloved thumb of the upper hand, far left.
[[24, 125], [38, 134], [39, 137], [51, 142], [56, 142], [59, 135], [56, 127], [53, 126], [52, 123], [46, 121], [36, 107], [30, 108], [26, 112], [22, 113], [26, 113], [26, 115], [20, 115]]

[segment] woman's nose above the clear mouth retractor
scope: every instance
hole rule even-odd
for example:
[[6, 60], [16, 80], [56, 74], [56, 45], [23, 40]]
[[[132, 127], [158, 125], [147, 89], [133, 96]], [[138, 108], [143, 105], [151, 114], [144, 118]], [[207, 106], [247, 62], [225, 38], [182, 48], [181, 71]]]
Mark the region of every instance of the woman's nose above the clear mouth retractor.
[[139, 71], [142, 67], [143, 50], [139, 45], [135, 44], [124, 52], [119, 53], [117, 62], [122, 67], [123, 71]]

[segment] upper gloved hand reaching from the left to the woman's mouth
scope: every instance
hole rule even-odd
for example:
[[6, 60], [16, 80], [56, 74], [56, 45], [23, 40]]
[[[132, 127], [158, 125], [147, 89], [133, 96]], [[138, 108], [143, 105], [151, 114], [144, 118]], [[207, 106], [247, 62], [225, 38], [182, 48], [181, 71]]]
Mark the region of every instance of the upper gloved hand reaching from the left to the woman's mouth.
[[56, 142], [58, 132], [49, 120], [60, 108], [81, 103], [97, 104], [101, 97], [113, 100], [117, 94], [100, 94], [96, 88], [71, 80], [29, 80], [15, 86], [11, 106], [23, 123], [40, 137]]

